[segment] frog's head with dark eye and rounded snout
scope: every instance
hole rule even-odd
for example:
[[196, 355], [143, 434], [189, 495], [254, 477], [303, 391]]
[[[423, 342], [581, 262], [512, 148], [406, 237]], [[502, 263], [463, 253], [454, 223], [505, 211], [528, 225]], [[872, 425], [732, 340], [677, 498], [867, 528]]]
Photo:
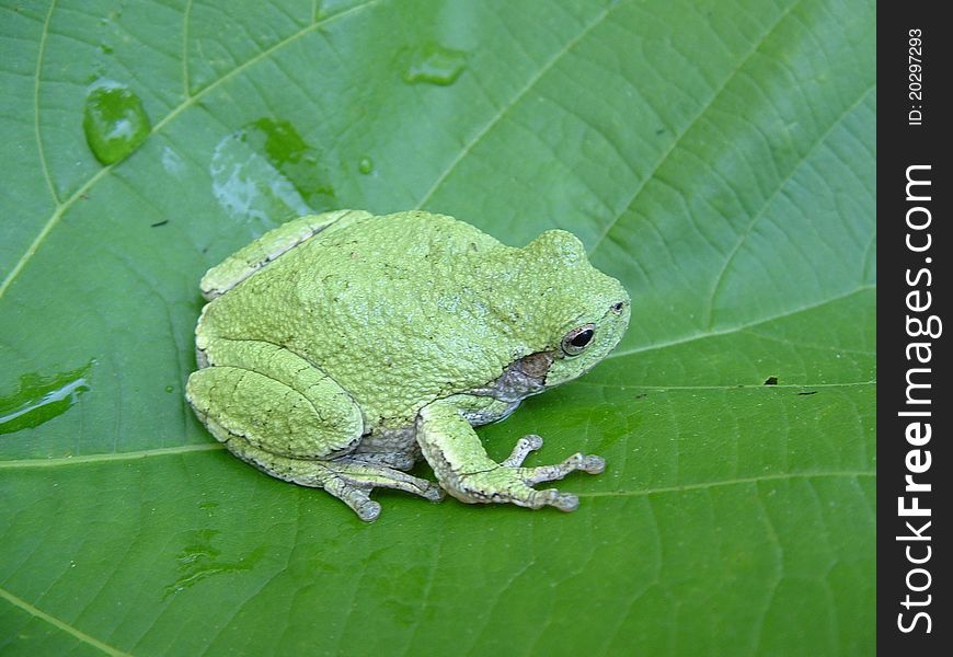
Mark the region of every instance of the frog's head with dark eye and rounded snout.
[[547, 231], [526, 250], [546, 272], [540, 299], [552, 364], [544, 385], [552, 388], [584, 374], [619, 344], [631, 304], [622, 284], [593, 267], [572, 233]]

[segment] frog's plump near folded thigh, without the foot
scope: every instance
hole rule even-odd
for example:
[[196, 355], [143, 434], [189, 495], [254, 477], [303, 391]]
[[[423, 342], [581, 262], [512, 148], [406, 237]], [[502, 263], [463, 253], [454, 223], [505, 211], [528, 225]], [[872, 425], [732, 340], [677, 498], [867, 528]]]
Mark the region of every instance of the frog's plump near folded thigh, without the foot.
[[271, 343], [222, 338], [209, 341], [204, 354], [210, 367], [192, 373], [186, 396], [226, 445], [239, 437], [273, 454], [319, 459], [345, 453], [360, 439], [360, 408], [300, 356]]

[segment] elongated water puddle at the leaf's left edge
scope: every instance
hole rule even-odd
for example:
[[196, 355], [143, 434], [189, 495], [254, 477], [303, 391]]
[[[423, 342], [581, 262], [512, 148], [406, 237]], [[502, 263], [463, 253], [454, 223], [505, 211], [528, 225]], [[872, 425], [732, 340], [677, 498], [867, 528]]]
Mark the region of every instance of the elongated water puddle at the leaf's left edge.
[[79, 395], [90, 390], [93, 361], [49, 377], [36, 373], [20, 377], [20, 388], [0, 397], [0, 434], [35, 427], [66, 413]]

